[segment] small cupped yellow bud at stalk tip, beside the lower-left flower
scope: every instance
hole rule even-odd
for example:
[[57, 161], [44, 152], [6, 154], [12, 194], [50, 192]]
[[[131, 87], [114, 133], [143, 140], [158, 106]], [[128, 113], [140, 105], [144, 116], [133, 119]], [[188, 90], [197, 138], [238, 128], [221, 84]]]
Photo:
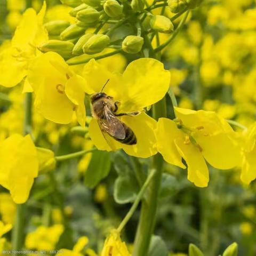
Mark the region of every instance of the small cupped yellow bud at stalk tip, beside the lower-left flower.
[[46, 173], [53, 171], [56, 167], [56, 160], [52, 150], [46, 148], [36, 148], [39, 160], [39, 172]]

